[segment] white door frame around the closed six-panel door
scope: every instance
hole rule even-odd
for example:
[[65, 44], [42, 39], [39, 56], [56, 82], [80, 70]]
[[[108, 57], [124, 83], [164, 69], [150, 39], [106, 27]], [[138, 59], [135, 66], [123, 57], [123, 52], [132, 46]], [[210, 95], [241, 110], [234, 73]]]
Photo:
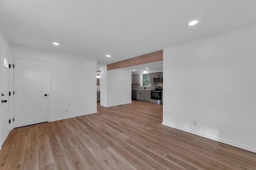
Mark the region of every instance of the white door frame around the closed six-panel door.
[[[12, 64], [14, 63], [14, 59], [25, 59], [25, 60], [34, 60], [34, 61], [43, 61], [43, 62], [48, 62], [48, 120], [47, 121], [50, 121], [51, 120], [51, 117], [50, 117], [50, 113], [51, 113], [51, 63], [50, 61], [48, 60], [44, 60], [44, 59], [38, 59], [38, 58], [32, 58], [32, 57], [23, 57], [23, 56], [12, 56]], [[10, 59], [11, 60], [11, 59]], [[14, 122], [12, 121], [13, 118], [14, 118], [14, 95], [15, 95], [15, 92], [14, 92], [14, 95], [13, 95], [13, 91], [14, 91], [14, 69], [15, 69], [15, 65], [14, 65], [14, 69], [13, 69], [13, 65], [11, 66], [11, 70], [10, 70], [10, 90], [11, 90], [11, 98], [10, 98], [10, 105], [12, 106], [11, 109], [10, 109], [10, 119], [11, 119], [11, 127], [12, 129], [14, 129]], [[15, 118], [14, 118], [14, 121], [15, 121]], [[11, 130], [11, 129], [10, 129]]]

